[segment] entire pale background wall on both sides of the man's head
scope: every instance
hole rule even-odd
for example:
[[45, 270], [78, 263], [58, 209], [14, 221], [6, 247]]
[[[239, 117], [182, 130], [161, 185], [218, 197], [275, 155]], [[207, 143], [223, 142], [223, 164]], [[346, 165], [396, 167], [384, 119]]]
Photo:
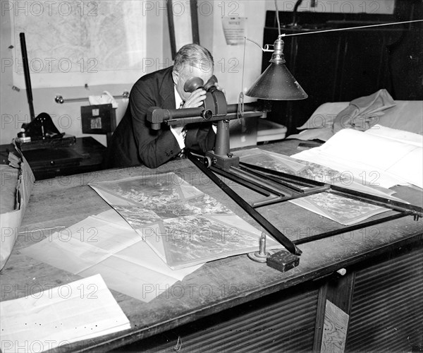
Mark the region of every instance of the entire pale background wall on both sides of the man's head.
[[[11, 58], [11, 50], [8, 49], [11, 38], [11, 23], [9, 14], [4, 11], [4, 3], [10, 2], [1, 0], [1, 128], [0, 143], [10, 143], [11, 139], [20, 131], [20, 126], [29, 120], [29, 108], [24, 88], [20, 91], [12, 89], [12, 74], [15, 67], [4, 67], [4, 59]], [[393, 11], [394, 0], [353, 0], [353, 1], [331, 1], [317, 0], [317, 8], [314, 11], [334, 9], [334, 4], [344, 11], [367, 12], [379, 11], [381, 13], [391, 13]], [[278, 0], [279, 11], [290, 11], [295, 1]], [[350, 10], [353, 4], [353, 10]], [[164, 11], [165, 0], [145, 1], [148, 11], [147, 16], [147, 56], [152, 59], [154, 65], [147, 67], [142, 74], [154, 71], [166, 66], [171, 60], [169, 48], [168, 25], [166, 12]], [[238, 95], [241, 90], [244, 92], [252, 85], [255, 78], [261, 71], [262, 52], [259, 48], [247, 42], [245, 47], [245, 61], [243, 61], [244, 45], [227, 45], [221, 23], [222, 16], [247, 17], [246, 33], [247, 37], [260, 45], [273, 44], [263, 43], [263, 28], [266, 11], [274, 11], [273, 0], [223, 0], [205, 1], [198, 0], [199, 6], [199, 28], [200, 42], [209, 48], [214, 54], [215, 73], [219, 82], [226, 89], [228, 103], [238, 102]], [[309, 10], [309, 0], [303, 1], [300, 11]], [[142, 16], [142, 15], [140, 15]], [[276, 38], [275, 38], [276, 39]], [[243, 73], [244, 71], [244, 73]], [[137, 80], [138, 77], [134, 78]], [[243, 82], [243, 85], [242, 85]], [[243, 86], [243, 87], [241, 87]], [[64, 98], [87, 97], [88, 95], [100, 95], [103, 90], [108, 90], [113, 95], [121, 95], [123, 90], [130, 90], [130, 85], [116, 85], [111, 83], [104, 86], [92, 86], [89, 90], [83, 87], [63, 87], [63, 88], [42, 88], [34, 89], [33, 101], [35, 115], [47, 112], [51, 115], [60, 131], [70, 133], [75, 136], [84, 136], [80, 127], [80, 106], [81, 102], [57, 104], [54, 102], [56, 95]], [[252, 99], [245, 97], [245, 102]], [[127, 102], [119, 100], [119, 107], [116, 112], [118, 120], [125, 112]], [[94, 135], [94, 138], [101, 143], [106, 143], [105, 136]]]

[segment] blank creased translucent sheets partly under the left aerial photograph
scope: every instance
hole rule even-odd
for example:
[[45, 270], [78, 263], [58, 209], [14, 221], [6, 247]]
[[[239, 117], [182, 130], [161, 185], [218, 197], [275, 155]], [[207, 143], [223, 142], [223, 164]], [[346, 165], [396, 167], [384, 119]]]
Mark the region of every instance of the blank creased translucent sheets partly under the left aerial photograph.
[[145, 302], [201, 267], [172, 270], [115, 210], [87, 217], [21, 252], [75, 275], [99, 273], [107, 287]]

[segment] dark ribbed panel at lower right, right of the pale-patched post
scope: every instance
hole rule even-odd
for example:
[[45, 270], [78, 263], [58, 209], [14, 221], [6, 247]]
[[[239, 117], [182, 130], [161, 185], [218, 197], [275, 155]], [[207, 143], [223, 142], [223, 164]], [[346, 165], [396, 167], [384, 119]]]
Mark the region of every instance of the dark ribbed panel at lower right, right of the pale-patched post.
[[405, 352], [423, 325], [423, 250], [358, 271], [347, 352]]

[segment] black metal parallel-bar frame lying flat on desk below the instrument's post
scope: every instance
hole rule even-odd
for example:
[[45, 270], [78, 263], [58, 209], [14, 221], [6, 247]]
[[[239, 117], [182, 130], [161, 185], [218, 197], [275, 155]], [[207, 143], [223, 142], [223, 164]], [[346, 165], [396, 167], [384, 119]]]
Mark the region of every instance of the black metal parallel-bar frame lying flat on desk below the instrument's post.
[[[377, 225], [379, 223], [388, 222], [390, 220], [396, 220], [400, 217], [405, 217], [408, 215], [413, 215], [415, 220], [418, 220], [419, 217], [423, 217], [423, 208], [416, 205], [410, 205], [408, 203], [394, 201], [389, 198], [382, 198], [380, 196], [373, 196], [367, 193], [362, 193], [360, 191], [346, 189], [341, 186], [325, 184], [319, 181], [277, 172], [272, 169], [257, 167], [255, 165], [243, 162], [239, 163], [239, 167], [231, 165], [226, 169], [221, 169], [219, 167], [215, 167], [214, 165], [209, 165], [208, 161], [205, 163], [206, 165], [204, 165], [202, 159], [204, 161], [207, 157], [195, 156], [189, 151], [186, 152], [186, 154], [188, 159], [192, 161], [199, 169], [201, 169], [202, 172], [207, 175], [207, 177], [212, 179], [212, 181], [214, 181], [217, 186], [219, 186], [228, 196], [230, 196], [233, 201], [238, 203], [238, 205], [240, 205], [243, 210], [245, 210], [245, 212], [247, 212], [251, 217], [259, 222], [259, 224], [264, 229], [266, 229], [266, 232], [268, 232], [272, 237], [274, 237], [274, 239], [285, 246], [286, 249], [294, 255], [300, 255], [302, 253], [302, 251], [297, 247], [298, 244], [305, 244], [309, 241], [324, 239], [326, 237], [332, 237], [336, 234], [345, 232], [351, 232], [356, 229]], [[239, 196], [238, 193], [235, 193], [235, 191], [233, 191], [219, 177], [217, 177], [216, 174], [220, 174], [225, 178], [238, 182], [238, 184], [257, 191], [258, 193], [266, 196], [266, 198], [251, 205], [250, 203], [247, 203], [247, 201], [245, 201], [241, 196]], [[342, 229], [337, 229], [331, 232], [324, 232], [321, 234], [313, 235], [311, 237], [291, 241], [256, 210], [256, 208], [262, 207], [264, 205], [271, 205], [274, 203], [293, 200], [294, 198], [301, 198], [324, 191], [336, 193], [339, 196], [353, 198], [355, 200], [371, 203], [373, 205], [391, 208], [391, 210], [396, 210], [399, 213], [396, 215], [381, 217], [377, 220], [372, 220], [369, 222], [362, 222], [358, 225], [344, 227]]]

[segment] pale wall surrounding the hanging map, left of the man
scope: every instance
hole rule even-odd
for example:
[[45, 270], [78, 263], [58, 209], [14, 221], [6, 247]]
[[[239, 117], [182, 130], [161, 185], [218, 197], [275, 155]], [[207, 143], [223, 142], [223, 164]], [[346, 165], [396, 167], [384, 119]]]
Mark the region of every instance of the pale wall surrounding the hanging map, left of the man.
[[[11, 20], [8, 11], [5, 10], [5, 3], [11, 4], [11, 1], [1, 0], [1, 128], [0, 143], [10, 143], [16, 133], [20, 131], [20, 126], [30, 120], [29, 107], [25, 87], [20, 87], [20, 91], [13, 90], [13, 70], [15, 66], [5, 65], [6, 60], [13, 58], [11, 49], [8, 49], [11, 42]], [[151, 64], [140, 75], [134, 77], [134, 83], [145, 73], [162, 68], [164, 63], [169, 64], [171, 60], [170, 49], [168, 49], [168, 25], [166, 12], [164, 11], [164, 0], [149, 1], [153, 8], [147, 7], [145, 16], [147, 18], [147, 56]], [[142, 14], [140, 13], [140, 16]], [[166, 61], [167, 58], [167, 61]], [[21, 61], [21, 58], [20, 62]], [[130, 91], [132, 85], [109, 84], [102, 86], [92, 86], [89, 89], [84, 87], [63, 87], [63, 88], [38, 88], [32, 90], [35, 116], [41, 112], [50, 114], [54, 124], [59, 131], [80, 137], [87, 136], [82, 134], [80, 125], [80, 107], [84, 102], [68, 102], [57, 104], [54, 102], [56, 95], [62, 95], [63, 98], [88, 97], [89, 95], [101, 95], [104, 90], [108, 90], [112, 95], [121, 95], [124, 90]], [[119, 107], [116, 111], [118, 121], [120, 121], [127, 102], [117, 101]], [[86, 103], [88, 104], [88, 102]], [[103, 135], [93, 135], [99, 142], [106, 145], [106, 137]]]

